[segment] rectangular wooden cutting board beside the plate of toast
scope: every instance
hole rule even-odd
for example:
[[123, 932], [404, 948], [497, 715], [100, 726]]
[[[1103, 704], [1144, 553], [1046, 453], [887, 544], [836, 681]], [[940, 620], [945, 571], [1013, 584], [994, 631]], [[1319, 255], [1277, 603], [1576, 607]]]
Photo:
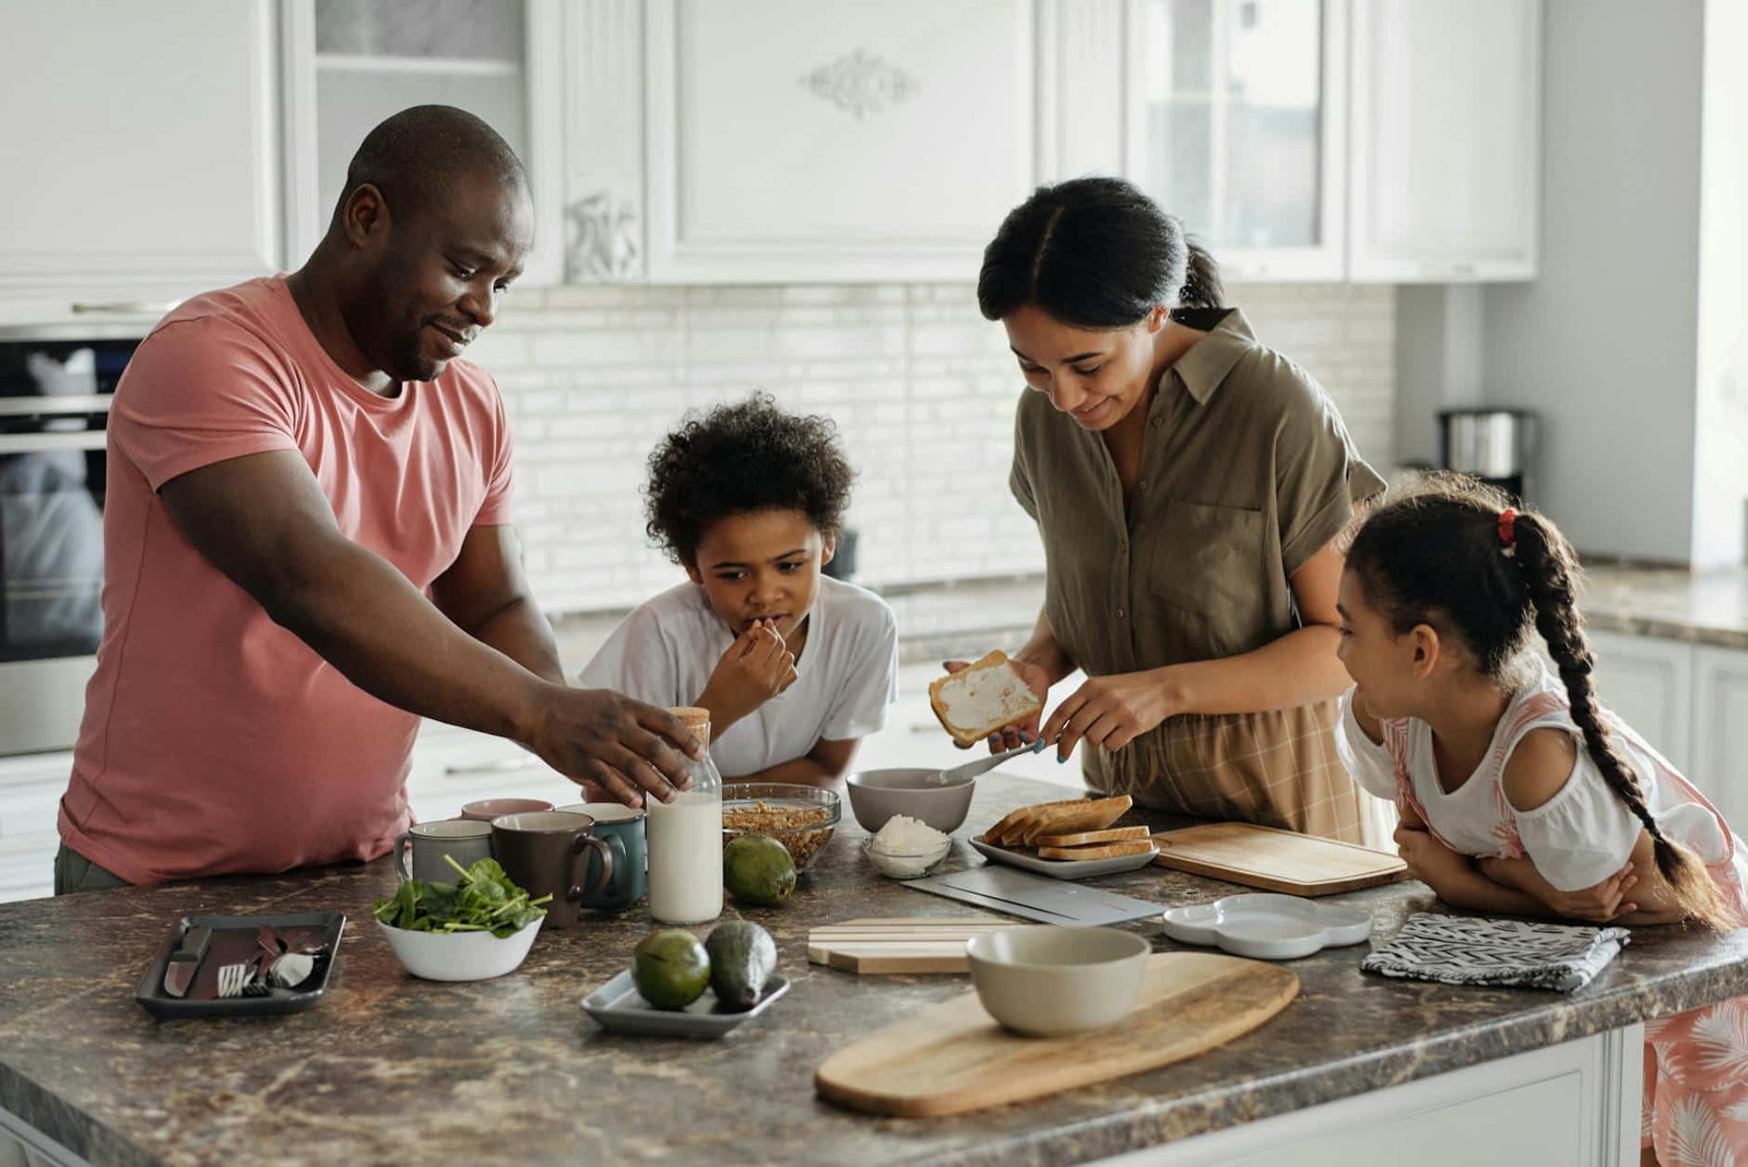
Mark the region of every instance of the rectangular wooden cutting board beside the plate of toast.
[[1407, 865], [1388, 851], [1297, 835], [1255, 823], [1203, 823], [1154, 835], [1154, 863], [1294, 896], [1330, 896], [1402, 879]]

